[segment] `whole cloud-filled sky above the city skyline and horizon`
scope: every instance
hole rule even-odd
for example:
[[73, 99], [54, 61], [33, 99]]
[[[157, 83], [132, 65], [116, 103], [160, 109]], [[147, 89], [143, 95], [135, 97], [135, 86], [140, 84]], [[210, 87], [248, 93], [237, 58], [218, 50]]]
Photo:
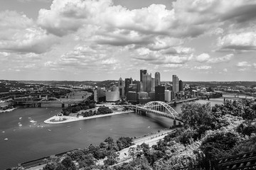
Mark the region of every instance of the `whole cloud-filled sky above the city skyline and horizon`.
[[0, 0], [0, 79], [256, 81], [255, 0]]

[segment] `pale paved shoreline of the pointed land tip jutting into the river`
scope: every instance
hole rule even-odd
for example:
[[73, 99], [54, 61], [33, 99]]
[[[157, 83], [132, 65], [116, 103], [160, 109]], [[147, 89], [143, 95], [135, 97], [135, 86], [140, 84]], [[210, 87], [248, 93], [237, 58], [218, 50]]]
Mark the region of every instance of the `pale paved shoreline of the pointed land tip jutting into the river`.
[[70, 115], [54, 115], [51, 118], [48, 118], [47, 120], [44, 120], [44, 123], [47, 124], [60, 124], [60, 123], [70, 123], [70, 122], [75, 122], [75, 121], [80, 121], [80, 120], [89, 120], [93, 118], [103, 118], [111, 115], [120, 115], [120, 114], [125, 114], [125, 113], [133, 113], [134, 111], [122, 111], [122, 112], [114, 112], [114, 113], [109, 113], [105, 115], [92, 115], [90, 117], [82, 117], [80, 116], [70, 116]]

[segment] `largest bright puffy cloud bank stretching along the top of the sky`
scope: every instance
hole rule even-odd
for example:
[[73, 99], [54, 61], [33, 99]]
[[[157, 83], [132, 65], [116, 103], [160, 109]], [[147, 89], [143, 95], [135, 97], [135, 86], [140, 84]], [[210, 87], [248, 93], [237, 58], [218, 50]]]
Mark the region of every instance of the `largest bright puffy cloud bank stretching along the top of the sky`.
[[[100, 26], [103, 31], [113, 28], [134, 30], [143, 34], [169, 35], [176, 38], [196, 37], [212, 30], [223, 33], [224, 21], [253, 19], [256, 3], [237, 0], [179, 0], [171, 10], [162, 4], [129, 10], [115, 6], [111, 0], [54, 0], [50, 10], [41, 9], [38, 24], [49, 33], [63, 36], [88, 25]], [[240, 13], [237, 13], [238, 9]]]

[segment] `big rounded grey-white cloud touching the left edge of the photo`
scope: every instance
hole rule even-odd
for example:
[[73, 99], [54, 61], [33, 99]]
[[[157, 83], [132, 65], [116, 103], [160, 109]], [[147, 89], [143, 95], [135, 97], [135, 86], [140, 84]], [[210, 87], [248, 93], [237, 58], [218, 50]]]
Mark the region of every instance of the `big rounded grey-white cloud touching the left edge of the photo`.
[[3, 11], [0, 18], [0, 50], [40, 54], [58, 42], [58, 38], [37, 27], [32, 19], [15, 11]]

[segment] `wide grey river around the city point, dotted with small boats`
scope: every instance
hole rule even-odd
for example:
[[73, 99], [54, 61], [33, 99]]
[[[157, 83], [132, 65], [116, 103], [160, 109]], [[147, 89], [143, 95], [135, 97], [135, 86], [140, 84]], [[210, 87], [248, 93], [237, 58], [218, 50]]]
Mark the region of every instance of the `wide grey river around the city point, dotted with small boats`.
[[[223, 103], [223, 98], [196, 102], [210, 102], [214, 106]], [[179, 113], [181, 105], [173, 108]], [[90, 144], [98, 145], [109, 136], [114, 140], [122, 136], [139, 137], [172, 125], [172, 120], [156, 120], [136, 113], [59, 125], [43, 123], [60, 111], [61, 108], [18, 108], [0, 113], [0, 169], [71, 149], [85, 148]]]

